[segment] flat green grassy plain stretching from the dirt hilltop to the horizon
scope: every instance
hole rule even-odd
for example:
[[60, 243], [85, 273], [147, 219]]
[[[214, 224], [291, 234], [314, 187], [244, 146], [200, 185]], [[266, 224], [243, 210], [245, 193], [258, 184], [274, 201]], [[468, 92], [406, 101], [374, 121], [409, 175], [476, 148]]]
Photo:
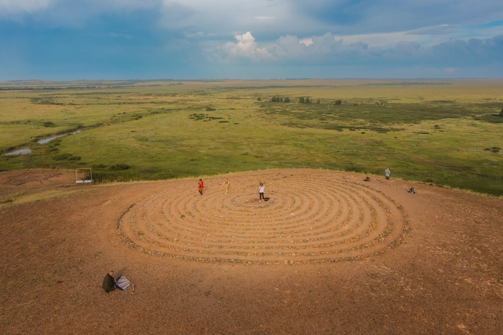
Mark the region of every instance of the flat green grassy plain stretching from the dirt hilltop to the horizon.
[[0, 153], [32, 150], [0, 155], [0, 170], [92, 167], [113, 182], [390, 166], [503, 195], [502, 109], [496, 79], [0, 82]]

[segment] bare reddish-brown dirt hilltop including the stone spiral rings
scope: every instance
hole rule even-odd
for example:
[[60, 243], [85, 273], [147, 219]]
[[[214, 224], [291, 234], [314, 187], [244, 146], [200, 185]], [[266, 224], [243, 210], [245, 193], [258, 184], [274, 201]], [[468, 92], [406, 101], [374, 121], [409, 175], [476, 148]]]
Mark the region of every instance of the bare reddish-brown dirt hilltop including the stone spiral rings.
[[363, 178], [0, 173], [0, 333], [501, 334], [503, 201]]

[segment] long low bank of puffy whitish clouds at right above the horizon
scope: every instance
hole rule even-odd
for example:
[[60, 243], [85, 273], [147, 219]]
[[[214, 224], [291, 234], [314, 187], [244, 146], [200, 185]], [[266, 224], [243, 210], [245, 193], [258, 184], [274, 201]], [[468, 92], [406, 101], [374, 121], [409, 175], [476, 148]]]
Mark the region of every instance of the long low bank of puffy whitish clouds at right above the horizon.
[[[312, 37], [306, 45], [298, 37], [285, 35], [274, 43], [260, 46], [251, 32], [236, 35], [236, 42], [206, 48], [205, 55], [211, 61], [239, 64], [247, 61], [264, 63], [348, 64], [437, 64], [444, 67], [482, 65], [488, 62], [501, 64], [503, 35], [491, 39], [450, 40], [433, 46], [421, 46], [415, 42], [399, 41], [395, 46], [383, 48], [368, 46], [362, 42], [344, 43], [332, 33]], [[453, 72], [453, 71], [448, 71]]]

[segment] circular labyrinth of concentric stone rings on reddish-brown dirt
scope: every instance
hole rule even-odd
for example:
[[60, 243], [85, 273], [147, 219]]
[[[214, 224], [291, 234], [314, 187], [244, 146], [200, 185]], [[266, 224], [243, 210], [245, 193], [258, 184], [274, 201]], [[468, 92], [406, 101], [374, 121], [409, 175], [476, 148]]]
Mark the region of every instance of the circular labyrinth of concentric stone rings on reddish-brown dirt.
[[[155, 256], [201, 262], [298, 264], [359, 260], [408, 232], [403, 207], [372, 184], [330, 171], [275, 170], [167, 182], [117, 219], [122, 240]], [[267, 202], [258, 201], [258, 183]]]

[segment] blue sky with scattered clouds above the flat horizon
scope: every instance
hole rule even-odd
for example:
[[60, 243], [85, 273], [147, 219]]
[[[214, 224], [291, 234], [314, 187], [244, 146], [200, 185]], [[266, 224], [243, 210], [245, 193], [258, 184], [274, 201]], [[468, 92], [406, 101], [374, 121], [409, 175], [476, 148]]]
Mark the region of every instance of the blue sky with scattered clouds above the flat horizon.
[[501, 0], [0, 0], [0, 80], [503, 77]]

